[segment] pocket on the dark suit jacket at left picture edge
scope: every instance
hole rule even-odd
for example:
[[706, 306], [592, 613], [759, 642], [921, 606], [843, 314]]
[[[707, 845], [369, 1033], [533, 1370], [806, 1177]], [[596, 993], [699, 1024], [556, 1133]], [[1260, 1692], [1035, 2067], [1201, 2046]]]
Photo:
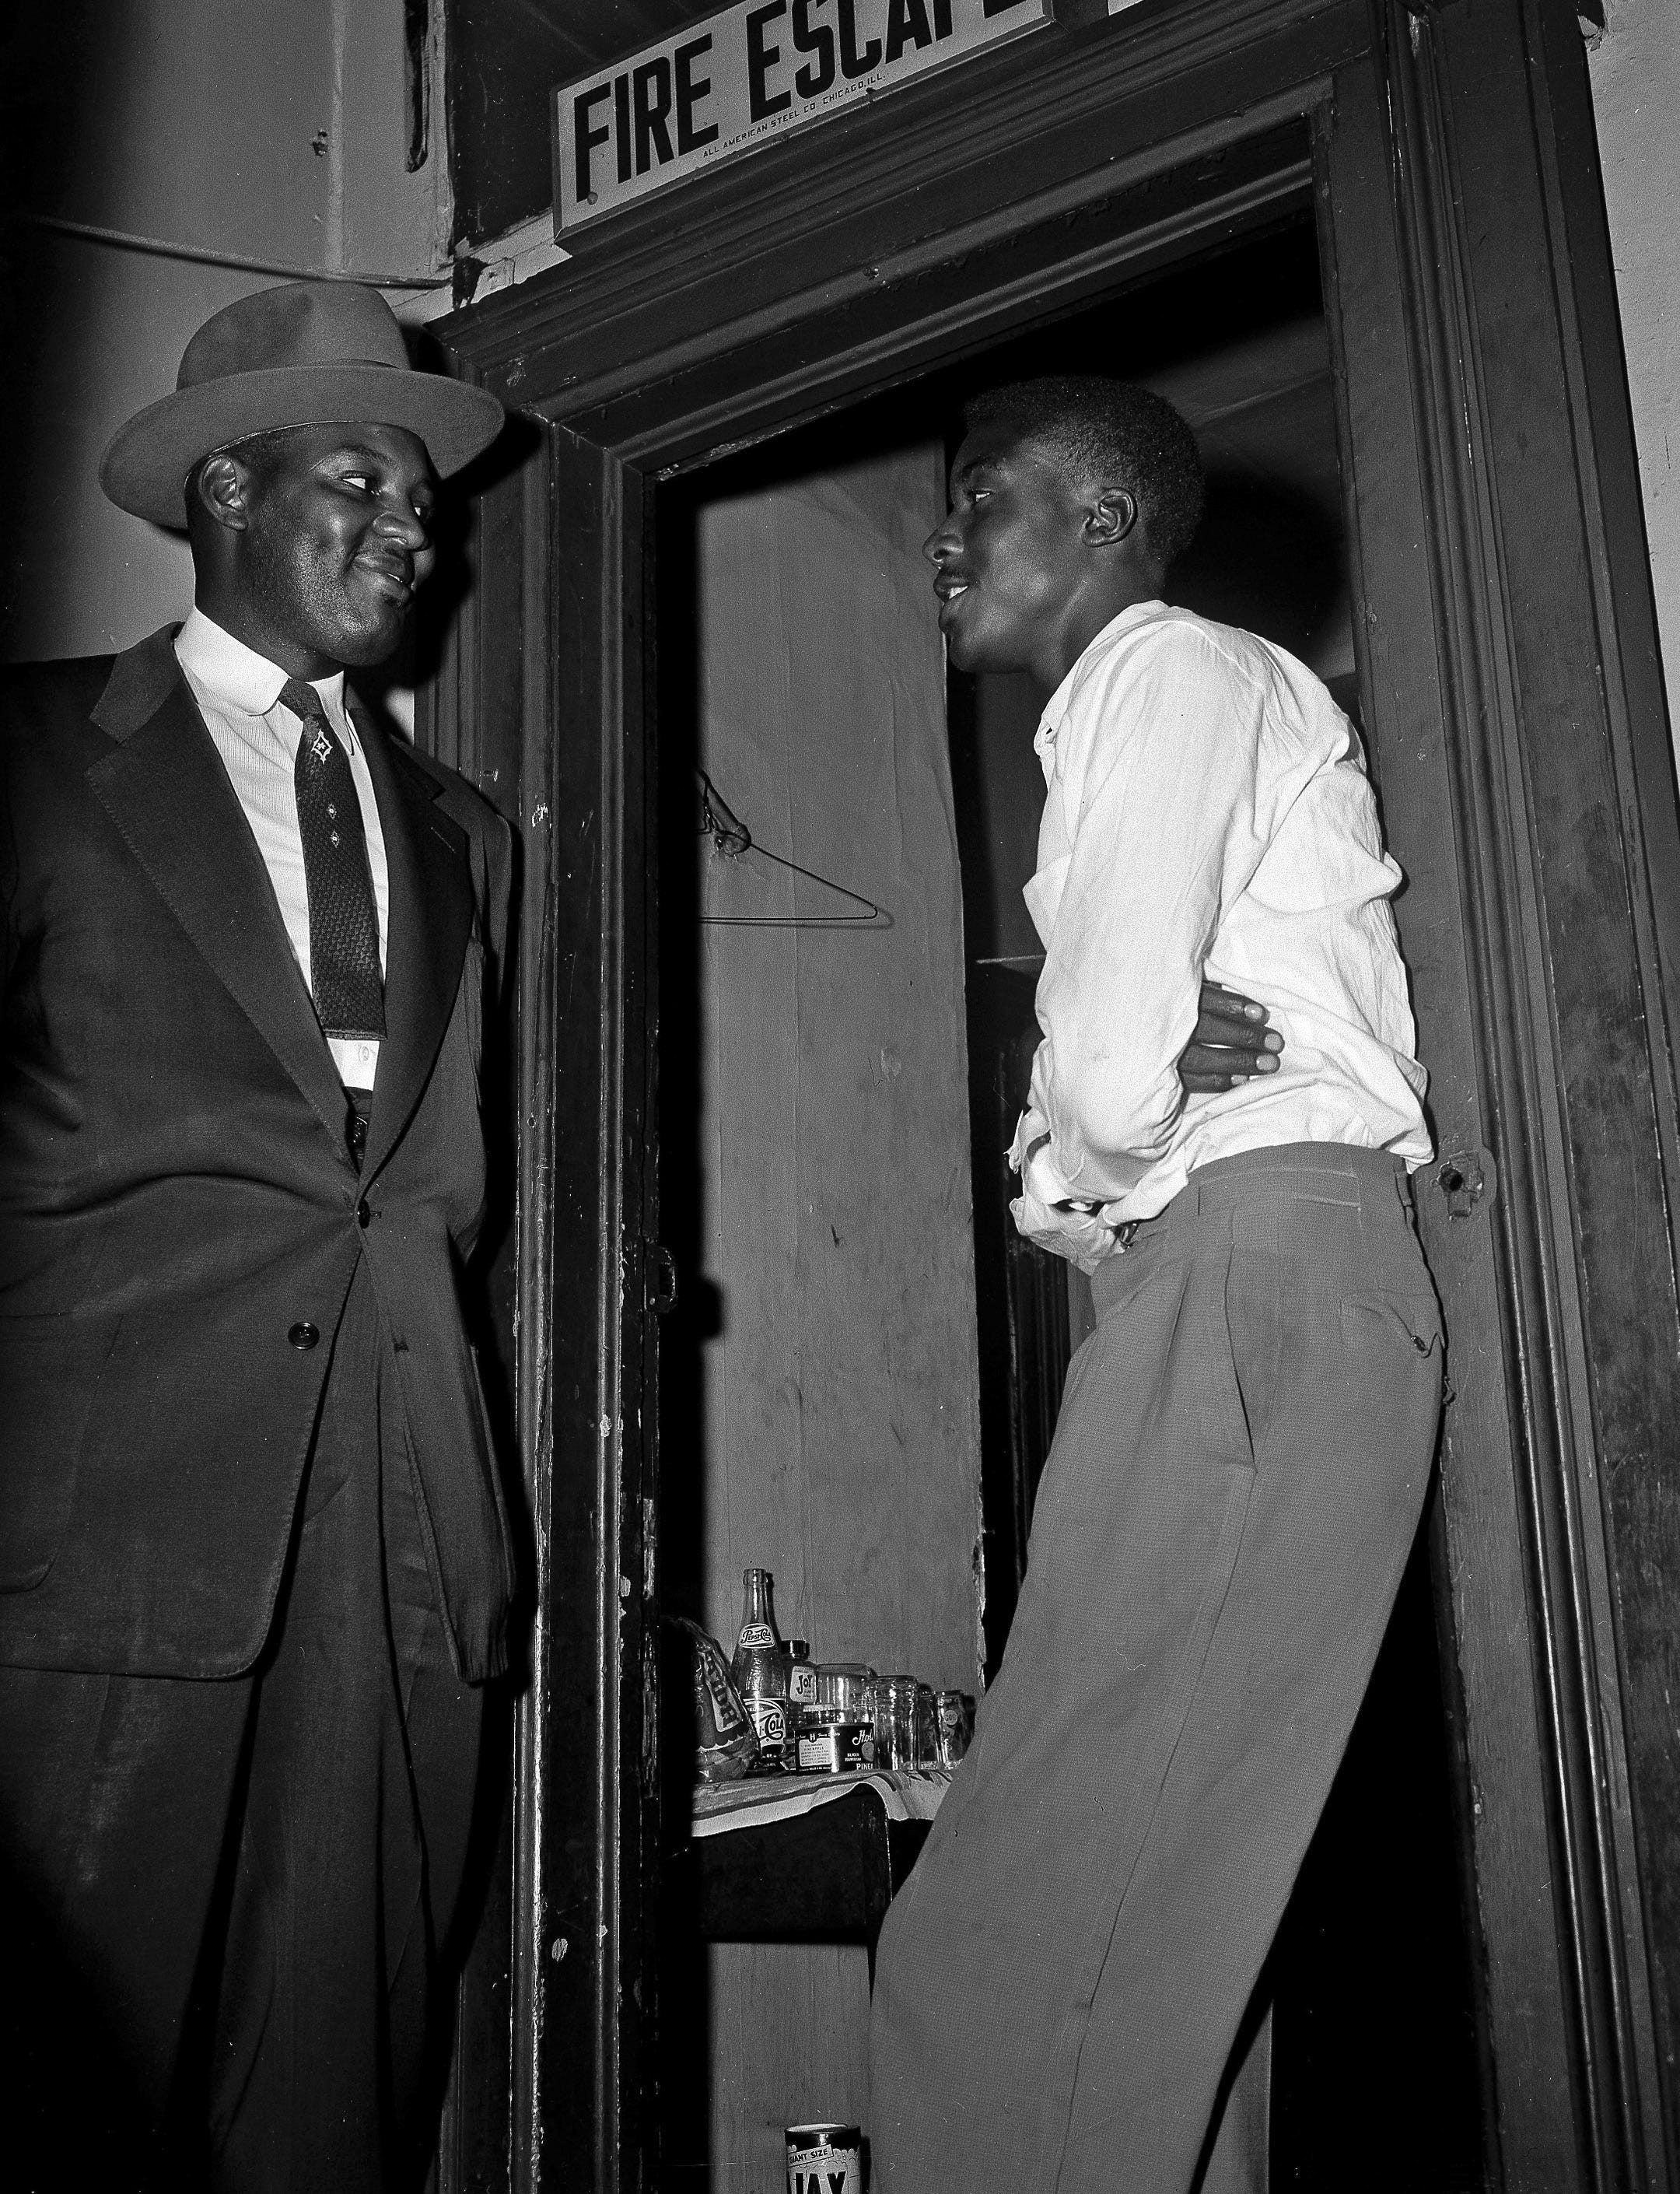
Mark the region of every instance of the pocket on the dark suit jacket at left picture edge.
[[0, 1312], [0, 1593], [35, 1591], [57, 1560], [118, 1323]]

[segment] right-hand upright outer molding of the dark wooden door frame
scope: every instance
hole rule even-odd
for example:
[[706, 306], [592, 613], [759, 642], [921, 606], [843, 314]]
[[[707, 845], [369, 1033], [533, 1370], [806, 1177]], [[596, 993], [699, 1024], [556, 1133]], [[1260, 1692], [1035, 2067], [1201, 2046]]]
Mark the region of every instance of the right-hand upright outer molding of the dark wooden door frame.
[[[1614, 344], [1614, 386], [1603, 355], [1614, 290], [1586, 61], [1573, 9], [1551, 0], [1443, 9], [1390, 37], [1415, 149], [1401, 226], [1432, 292], [1415, 325], [1434, 336], [1419, 382], [1441, 421], [1461, 829], [1478, 834], [1483, 1101], [1513, 1176], [1496, 1218], [1583, 2183], [1669, 2187], [1680, 1303], [1658, 921], [1680, 840], [1641, 634], [1643, 513], [1603, 463], [1632, 456], [1632, 426]], [[1577, 265], [1597, 274], [1597, 327]]]

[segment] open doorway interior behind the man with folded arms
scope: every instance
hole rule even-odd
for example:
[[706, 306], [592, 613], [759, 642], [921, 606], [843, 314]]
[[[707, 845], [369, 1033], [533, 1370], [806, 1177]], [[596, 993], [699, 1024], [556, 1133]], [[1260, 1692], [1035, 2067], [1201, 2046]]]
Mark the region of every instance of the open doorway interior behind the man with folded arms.
[[[654, 507], [660, 1211], [684, 1275], [660, 1330], [665, 1608], [728, 1652], [743, 1562], [772, 1567], [783, 1635], [818, 1659], [972, 1689], [1007, 1641], [1090, 1297], [1007, 1211], [1042, 959], [1022, 902], [1037, 704], [1024, 680], [945, 674], [919, 546], [963, 397], [1042, 371], [1180, 406], [1208, 511], [1173, 599], [1290, 647], [1358, 722], [1305, 213], [686, 472]], [[1441, 1700], [1421, 1540], [1270, 1970], [1281, 2187], [1344, 2185], [1373, 2124], [1393, 2133], [1371, 2187], [1480, 2176]], [[689, 1795], [667, 1753], [667, 1832]], [[770, 2183], [781, 2124], [866, 2124], [862, 1953], [702, 1950], [667, 1909], [660, 2001], [667, 2187]]]

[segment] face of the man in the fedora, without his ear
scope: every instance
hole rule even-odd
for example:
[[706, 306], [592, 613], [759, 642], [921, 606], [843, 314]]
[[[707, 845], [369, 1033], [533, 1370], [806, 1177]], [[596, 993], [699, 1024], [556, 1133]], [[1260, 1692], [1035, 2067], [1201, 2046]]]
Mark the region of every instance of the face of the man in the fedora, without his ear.
[[294, 647], [384, 663], [436, 562], [425, 443], [399, 426], [298, 426], [274, 443], [250, 483], [241, 592]]

